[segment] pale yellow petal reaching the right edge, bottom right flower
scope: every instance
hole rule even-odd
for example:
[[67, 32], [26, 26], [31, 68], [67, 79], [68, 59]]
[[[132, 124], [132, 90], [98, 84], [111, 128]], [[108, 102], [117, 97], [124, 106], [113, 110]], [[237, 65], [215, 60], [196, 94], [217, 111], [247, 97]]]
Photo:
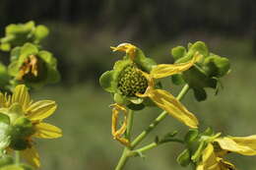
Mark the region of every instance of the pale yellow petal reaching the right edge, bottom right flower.
[[240, 153], [243, 155], [256, 155], [256, 150], [250, 147], [251, 144], [246, 144], [246, 142], [235, 142], [231, 138], [219, 138], [215, 142], [218, 142], [224, 150]]

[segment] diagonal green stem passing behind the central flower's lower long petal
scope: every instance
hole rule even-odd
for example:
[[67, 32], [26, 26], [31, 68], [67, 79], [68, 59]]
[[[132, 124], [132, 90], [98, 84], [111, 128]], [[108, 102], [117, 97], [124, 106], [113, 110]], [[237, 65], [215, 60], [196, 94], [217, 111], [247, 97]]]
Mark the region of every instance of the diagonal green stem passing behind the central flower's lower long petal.
[[[187, 93], [187, 91], [189, 90], [189, 85], [184, 85], [183, 88], [181, 89], [181, 91], [179, 92], [178, 96], [176, 97], [177, 100], [181, 100], [185, 94]], [[152, 124], [150, 124], [150, 126], [143, 131], [132, 143], [131, 143], [131, 148], [134, 148], [135, 146], [137, 146], [141, 141], [143, 141], [148, 134], [150, 134], [150, 132], [152, 132], [152, 130], [154, 130], [159, 123], [167, 116], [167, 112], [166, 111], [162, 111], [160, 113], [160, 115], [154, 120], [154, 122]]]

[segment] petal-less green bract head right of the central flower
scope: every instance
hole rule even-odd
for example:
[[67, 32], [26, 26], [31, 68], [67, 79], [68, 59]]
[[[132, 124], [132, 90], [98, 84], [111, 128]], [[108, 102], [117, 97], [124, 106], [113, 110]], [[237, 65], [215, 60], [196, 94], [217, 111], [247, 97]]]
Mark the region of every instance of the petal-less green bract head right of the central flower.
[[191, 60], [195, 53], [201, 54], [201, 59], [188, 71], [172, 76], [175, 85], [187, 83], [194, 90], [198, 101], [205, 100], [207, 93], [205, 87], [215, 88], [218, 91], [220, 78], [229, 71], [228, 59], [209, 52], [208, 47], [202, 41], [188, 44], [188, 50], [183, 46], [171, 49], [175, 63], [183, 63]]

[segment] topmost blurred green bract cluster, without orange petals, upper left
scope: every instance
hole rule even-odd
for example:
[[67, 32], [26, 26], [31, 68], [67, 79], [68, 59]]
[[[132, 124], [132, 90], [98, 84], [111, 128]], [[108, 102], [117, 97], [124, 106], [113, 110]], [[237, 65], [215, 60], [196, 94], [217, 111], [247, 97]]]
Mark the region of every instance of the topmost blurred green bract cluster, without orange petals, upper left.
[[5, 29], [5, 36], [0, 39], [0, 50], [10, 51], [15, 46], [22, 46], [26, 42], [39, 43], [48, 35], [48, 28], [35, 26], [34, 22], [9, 25]]

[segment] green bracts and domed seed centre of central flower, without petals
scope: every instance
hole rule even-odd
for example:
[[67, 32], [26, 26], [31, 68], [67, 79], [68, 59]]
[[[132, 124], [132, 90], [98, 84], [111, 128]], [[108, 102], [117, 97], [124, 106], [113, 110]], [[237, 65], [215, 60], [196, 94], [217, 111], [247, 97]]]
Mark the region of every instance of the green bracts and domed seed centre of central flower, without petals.
[[126, 54], [122, 60], [115, 62], [113, 70], [107, 71], [99, 78], [99, 83], [107, 92], [113, 94], [115, 102], [125, 104], [133, 110], [143, 109], [148, 102], [137, 97], [144, 93], [148, 81], [139, 71], [150, 73], [156, 62], [147, 58], [143, 51], [136, 48], [134, 60]]

